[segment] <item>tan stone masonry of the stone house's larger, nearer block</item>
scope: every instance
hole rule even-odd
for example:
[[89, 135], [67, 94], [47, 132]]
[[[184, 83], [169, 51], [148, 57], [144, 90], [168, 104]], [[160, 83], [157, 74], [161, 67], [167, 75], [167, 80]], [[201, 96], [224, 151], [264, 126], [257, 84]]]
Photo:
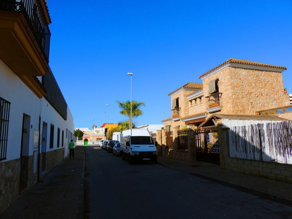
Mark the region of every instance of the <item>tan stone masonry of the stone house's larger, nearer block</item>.
[[281, 72], [226, 67], [203, 80], [205, 96], [208, 83], [216, 78], [219, 79], [219, 92], [222, 92], [221, 114], [255, 115], [258, 110], [289, 105]]

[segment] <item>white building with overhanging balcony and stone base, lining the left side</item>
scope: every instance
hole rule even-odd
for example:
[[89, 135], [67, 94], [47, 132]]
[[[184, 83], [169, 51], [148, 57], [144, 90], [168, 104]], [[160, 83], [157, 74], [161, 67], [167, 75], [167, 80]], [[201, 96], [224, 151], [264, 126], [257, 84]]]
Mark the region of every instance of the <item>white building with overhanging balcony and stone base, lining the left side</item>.
[[55, 168], [74, 139], [72, 114], [48, 65], [50, 22], [44, 0], [1, 1], [0, 213]]

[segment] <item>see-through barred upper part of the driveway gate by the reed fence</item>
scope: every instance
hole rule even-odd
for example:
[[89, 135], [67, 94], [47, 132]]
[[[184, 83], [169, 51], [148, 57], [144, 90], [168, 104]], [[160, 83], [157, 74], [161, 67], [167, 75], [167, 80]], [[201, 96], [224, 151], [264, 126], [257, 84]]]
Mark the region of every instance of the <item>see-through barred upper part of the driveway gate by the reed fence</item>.
[[219, 153], [217, 126], [197, 128], [195, 136], [198, 152]]

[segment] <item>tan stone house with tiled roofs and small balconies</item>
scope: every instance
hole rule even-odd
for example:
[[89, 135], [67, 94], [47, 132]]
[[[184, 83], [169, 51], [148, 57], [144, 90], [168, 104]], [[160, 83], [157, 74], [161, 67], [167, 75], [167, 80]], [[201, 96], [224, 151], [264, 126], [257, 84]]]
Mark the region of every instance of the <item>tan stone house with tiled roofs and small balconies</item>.
[[290, 105], [282, 72], [287, 67], [230, 58], [168, 94], [171, 117], [164, 128], [199, 126], [213, 113], [256, 115], [257, 111]]

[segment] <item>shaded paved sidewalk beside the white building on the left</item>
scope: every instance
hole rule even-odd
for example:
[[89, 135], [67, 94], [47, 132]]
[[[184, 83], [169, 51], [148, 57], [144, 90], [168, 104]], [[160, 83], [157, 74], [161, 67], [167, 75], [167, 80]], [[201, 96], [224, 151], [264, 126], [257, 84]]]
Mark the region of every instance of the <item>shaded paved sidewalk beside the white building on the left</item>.
[[0, 214], [0, 218], [83, 218], [84, 148], [77, 146], [74, 151], [74, 159], [67, 156], [41, 182]]

